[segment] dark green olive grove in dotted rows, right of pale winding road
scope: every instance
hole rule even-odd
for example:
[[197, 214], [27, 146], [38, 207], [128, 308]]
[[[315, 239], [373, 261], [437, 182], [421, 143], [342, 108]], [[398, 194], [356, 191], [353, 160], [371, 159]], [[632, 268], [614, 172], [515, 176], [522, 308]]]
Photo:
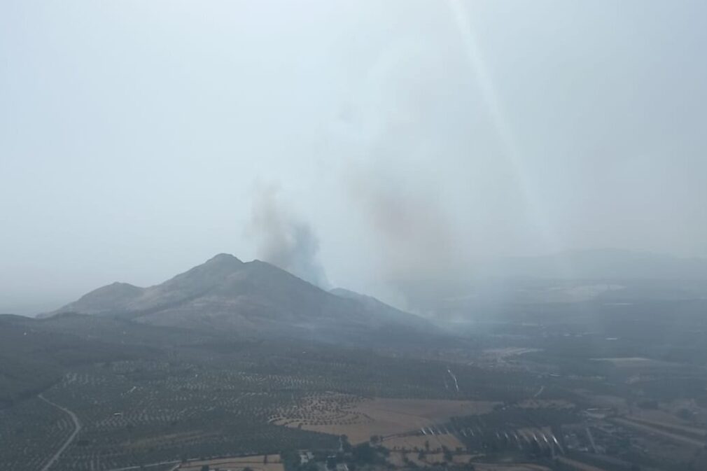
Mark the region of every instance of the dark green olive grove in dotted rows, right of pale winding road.
[[[83, 429], [58, 470], [94, 470], [281, 448], [330, 447], [336, 438], [268, 424], [296, 392], [263, 391], [249, 374], [180, 373], [165, 364], [117, 363], [70, 373], [46, 392]], [[190, 454], [187, 454], [190, 453]]]

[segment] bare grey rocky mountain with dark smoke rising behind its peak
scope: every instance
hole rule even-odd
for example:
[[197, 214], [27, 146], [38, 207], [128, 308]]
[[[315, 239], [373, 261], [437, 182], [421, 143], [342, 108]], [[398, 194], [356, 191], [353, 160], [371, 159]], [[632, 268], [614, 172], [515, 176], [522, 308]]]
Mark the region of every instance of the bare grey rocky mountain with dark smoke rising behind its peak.
[[433, 331], [422, 318], [350, 293], [323, 291], [266, 262], [219, 254], [162, 284], [110, 284], [48, 315], [115, 316], [204, 332], [324, 342], [370, 342], [390, 330]]

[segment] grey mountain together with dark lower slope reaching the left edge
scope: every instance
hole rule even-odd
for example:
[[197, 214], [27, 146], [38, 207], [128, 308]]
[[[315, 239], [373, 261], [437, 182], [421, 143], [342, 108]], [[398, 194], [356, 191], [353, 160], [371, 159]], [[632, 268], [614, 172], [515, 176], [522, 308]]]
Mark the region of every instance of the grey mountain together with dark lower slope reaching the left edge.
[[455, 341], [375, 298], [323, 291], [271, 264], [220, 254], [156, 286], [113, 283], [37, 318], [0, 315], [0, 408], [79, 366], [209, 364], [268, 345], [418, 349], [440, 338]]

